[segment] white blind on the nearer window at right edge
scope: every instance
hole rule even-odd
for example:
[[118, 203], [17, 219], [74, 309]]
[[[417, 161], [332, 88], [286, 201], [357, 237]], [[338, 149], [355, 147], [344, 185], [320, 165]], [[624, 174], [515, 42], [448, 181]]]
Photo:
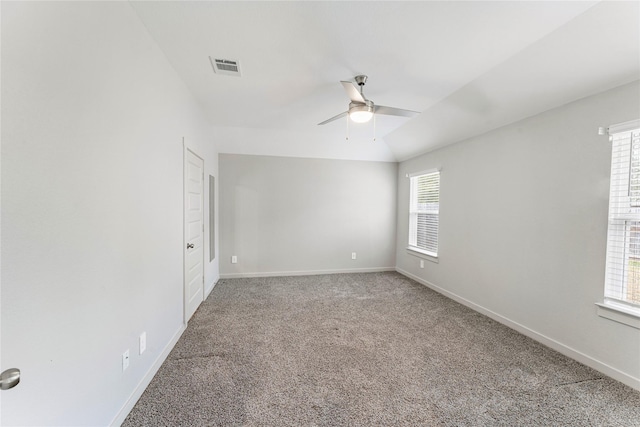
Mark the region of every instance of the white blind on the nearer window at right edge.
[[605, 302], [640, 309], [640, 129], [611, 139]]

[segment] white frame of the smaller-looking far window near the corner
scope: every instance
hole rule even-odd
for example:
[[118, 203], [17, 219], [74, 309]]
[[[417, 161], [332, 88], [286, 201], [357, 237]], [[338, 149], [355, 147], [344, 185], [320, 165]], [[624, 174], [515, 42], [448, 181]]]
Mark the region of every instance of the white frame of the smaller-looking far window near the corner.
[[[417, 180], [427, 175], [438, 175], [437, 195], [438, 204], [437, 210], [434, 211], [433, 206], [431, 209], [419, 209], [417, 207]], [[408, 238], [407, 238], [407, 252], [411, 255], [423, 258], [432, 262], [438, 262], [439, 252], [439, 235], [440, 235], [440, 187], [441, 187], [441, 173], [440, 169], [428, 169], [419, 172], [407, 174], [409, 178], [409, 224], [408, 224]], [[423, 248], [417, 245], [418, 240], [418, 215], [419, 214], [437, 215], [437, 224], [435, 230], [435, 237], [432, 235], [431, 240], [435, 240], [435, 251], [430, 251], [427, 248]]]

